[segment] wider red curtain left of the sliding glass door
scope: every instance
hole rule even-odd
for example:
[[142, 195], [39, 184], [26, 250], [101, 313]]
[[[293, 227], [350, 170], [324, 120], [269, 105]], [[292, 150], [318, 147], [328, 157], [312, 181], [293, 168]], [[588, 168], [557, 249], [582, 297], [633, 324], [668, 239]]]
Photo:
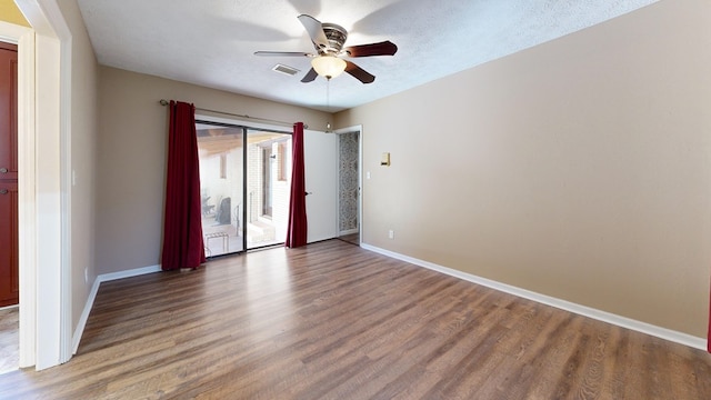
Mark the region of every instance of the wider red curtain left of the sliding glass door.
[[161, 268], [198, 268], [204, 262], [196, 108], [170, 101], [166, 221]]

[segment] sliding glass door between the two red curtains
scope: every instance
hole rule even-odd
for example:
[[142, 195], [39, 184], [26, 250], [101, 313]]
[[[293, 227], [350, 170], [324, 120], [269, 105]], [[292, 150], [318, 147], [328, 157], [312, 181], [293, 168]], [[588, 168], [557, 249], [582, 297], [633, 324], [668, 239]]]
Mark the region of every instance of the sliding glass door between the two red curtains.
[[198, 121], [206, 254], [283, 243], [291, 134]]

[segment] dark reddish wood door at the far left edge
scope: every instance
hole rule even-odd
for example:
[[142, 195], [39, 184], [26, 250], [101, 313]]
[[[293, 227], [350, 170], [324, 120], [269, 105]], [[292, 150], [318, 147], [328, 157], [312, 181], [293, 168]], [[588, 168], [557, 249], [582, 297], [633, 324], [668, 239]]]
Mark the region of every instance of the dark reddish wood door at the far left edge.
[[0, 307], [18, 303], [18, 48], [0, 42]]

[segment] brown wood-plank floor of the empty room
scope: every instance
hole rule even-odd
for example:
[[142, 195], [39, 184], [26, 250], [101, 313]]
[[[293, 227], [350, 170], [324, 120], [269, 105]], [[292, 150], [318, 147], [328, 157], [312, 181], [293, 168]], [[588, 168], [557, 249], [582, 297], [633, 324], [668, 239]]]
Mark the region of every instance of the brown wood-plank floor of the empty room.
[[711, 399], [711, 357], [330, 240], [103, 283], [0, 398]]

